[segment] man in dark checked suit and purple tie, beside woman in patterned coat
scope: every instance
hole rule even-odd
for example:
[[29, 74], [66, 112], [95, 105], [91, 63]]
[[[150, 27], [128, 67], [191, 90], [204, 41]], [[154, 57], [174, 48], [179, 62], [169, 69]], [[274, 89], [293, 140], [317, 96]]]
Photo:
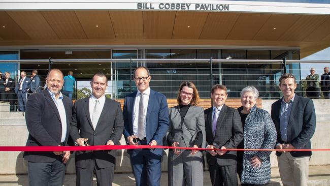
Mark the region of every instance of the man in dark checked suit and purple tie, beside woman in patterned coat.
[[211, 90], [213, 107], [205, 110], [206, 154], [212, 185], [238, 185], [236, 164], [237, 152], [226, 148], [237, 148], [243, 140], [241, 116], [237, 109], [227, 107], [227, 88], [214, 85]]

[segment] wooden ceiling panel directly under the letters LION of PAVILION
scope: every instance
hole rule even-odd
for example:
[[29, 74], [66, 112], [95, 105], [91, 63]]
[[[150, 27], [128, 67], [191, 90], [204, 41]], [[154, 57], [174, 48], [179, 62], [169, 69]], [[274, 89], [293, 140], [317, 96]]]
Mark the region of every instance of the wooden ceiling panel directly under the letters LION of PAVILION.
[[200, 39], [224, 40], [239, 16], [240, 13], [210, 12]]

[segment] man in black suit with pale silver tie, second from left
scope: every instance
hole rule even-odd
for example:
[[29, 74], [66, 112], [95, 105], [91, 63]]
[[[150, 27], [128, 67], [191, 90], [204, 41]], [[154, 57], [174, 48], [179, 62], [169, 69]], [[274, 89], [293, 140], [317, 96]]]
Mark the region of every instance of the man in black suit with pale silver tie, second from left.
[[[108, 78], [96, 73], [90, 82], [92, 95], [75, 102], [70, 136], [79, 146], [118, 144], [124, 130], [120, 103], [105, 97]], [[76, 151], [76, 185], [112, 185], [115, 150]]]

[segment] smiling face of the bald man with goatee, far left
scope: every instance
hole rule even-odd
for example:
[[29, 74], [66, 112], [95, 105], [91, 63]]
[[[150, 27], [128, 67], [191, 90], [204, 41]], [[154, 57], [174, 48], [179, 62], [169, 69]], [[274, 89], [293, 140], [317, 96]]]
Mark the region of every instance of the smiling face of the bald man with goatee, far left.
[[48, 90], [57, 96], [63, 86], [63, 74], [57, 70], [52, 70], [46, 77], [46, 85]]

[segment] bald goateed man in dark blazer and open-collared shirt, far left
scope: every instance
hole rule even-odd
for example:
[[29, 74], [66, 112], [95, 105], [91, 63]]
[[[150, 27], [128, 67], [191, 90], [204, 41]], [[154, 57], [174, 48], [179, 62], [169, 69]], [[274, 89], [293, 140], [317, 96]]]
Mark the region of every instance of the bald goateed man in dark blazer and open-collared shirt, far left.
[[[68, 142], [72, 101], [60, 92], [62, 72], [50, 70], [46, 85], [47, 89], [28, 98], [26, 146], [65, 146]], [[29, 185], [62, 185], [69, 157], [70, 151], [24, 152], [24, 159], [28, 161]]]

